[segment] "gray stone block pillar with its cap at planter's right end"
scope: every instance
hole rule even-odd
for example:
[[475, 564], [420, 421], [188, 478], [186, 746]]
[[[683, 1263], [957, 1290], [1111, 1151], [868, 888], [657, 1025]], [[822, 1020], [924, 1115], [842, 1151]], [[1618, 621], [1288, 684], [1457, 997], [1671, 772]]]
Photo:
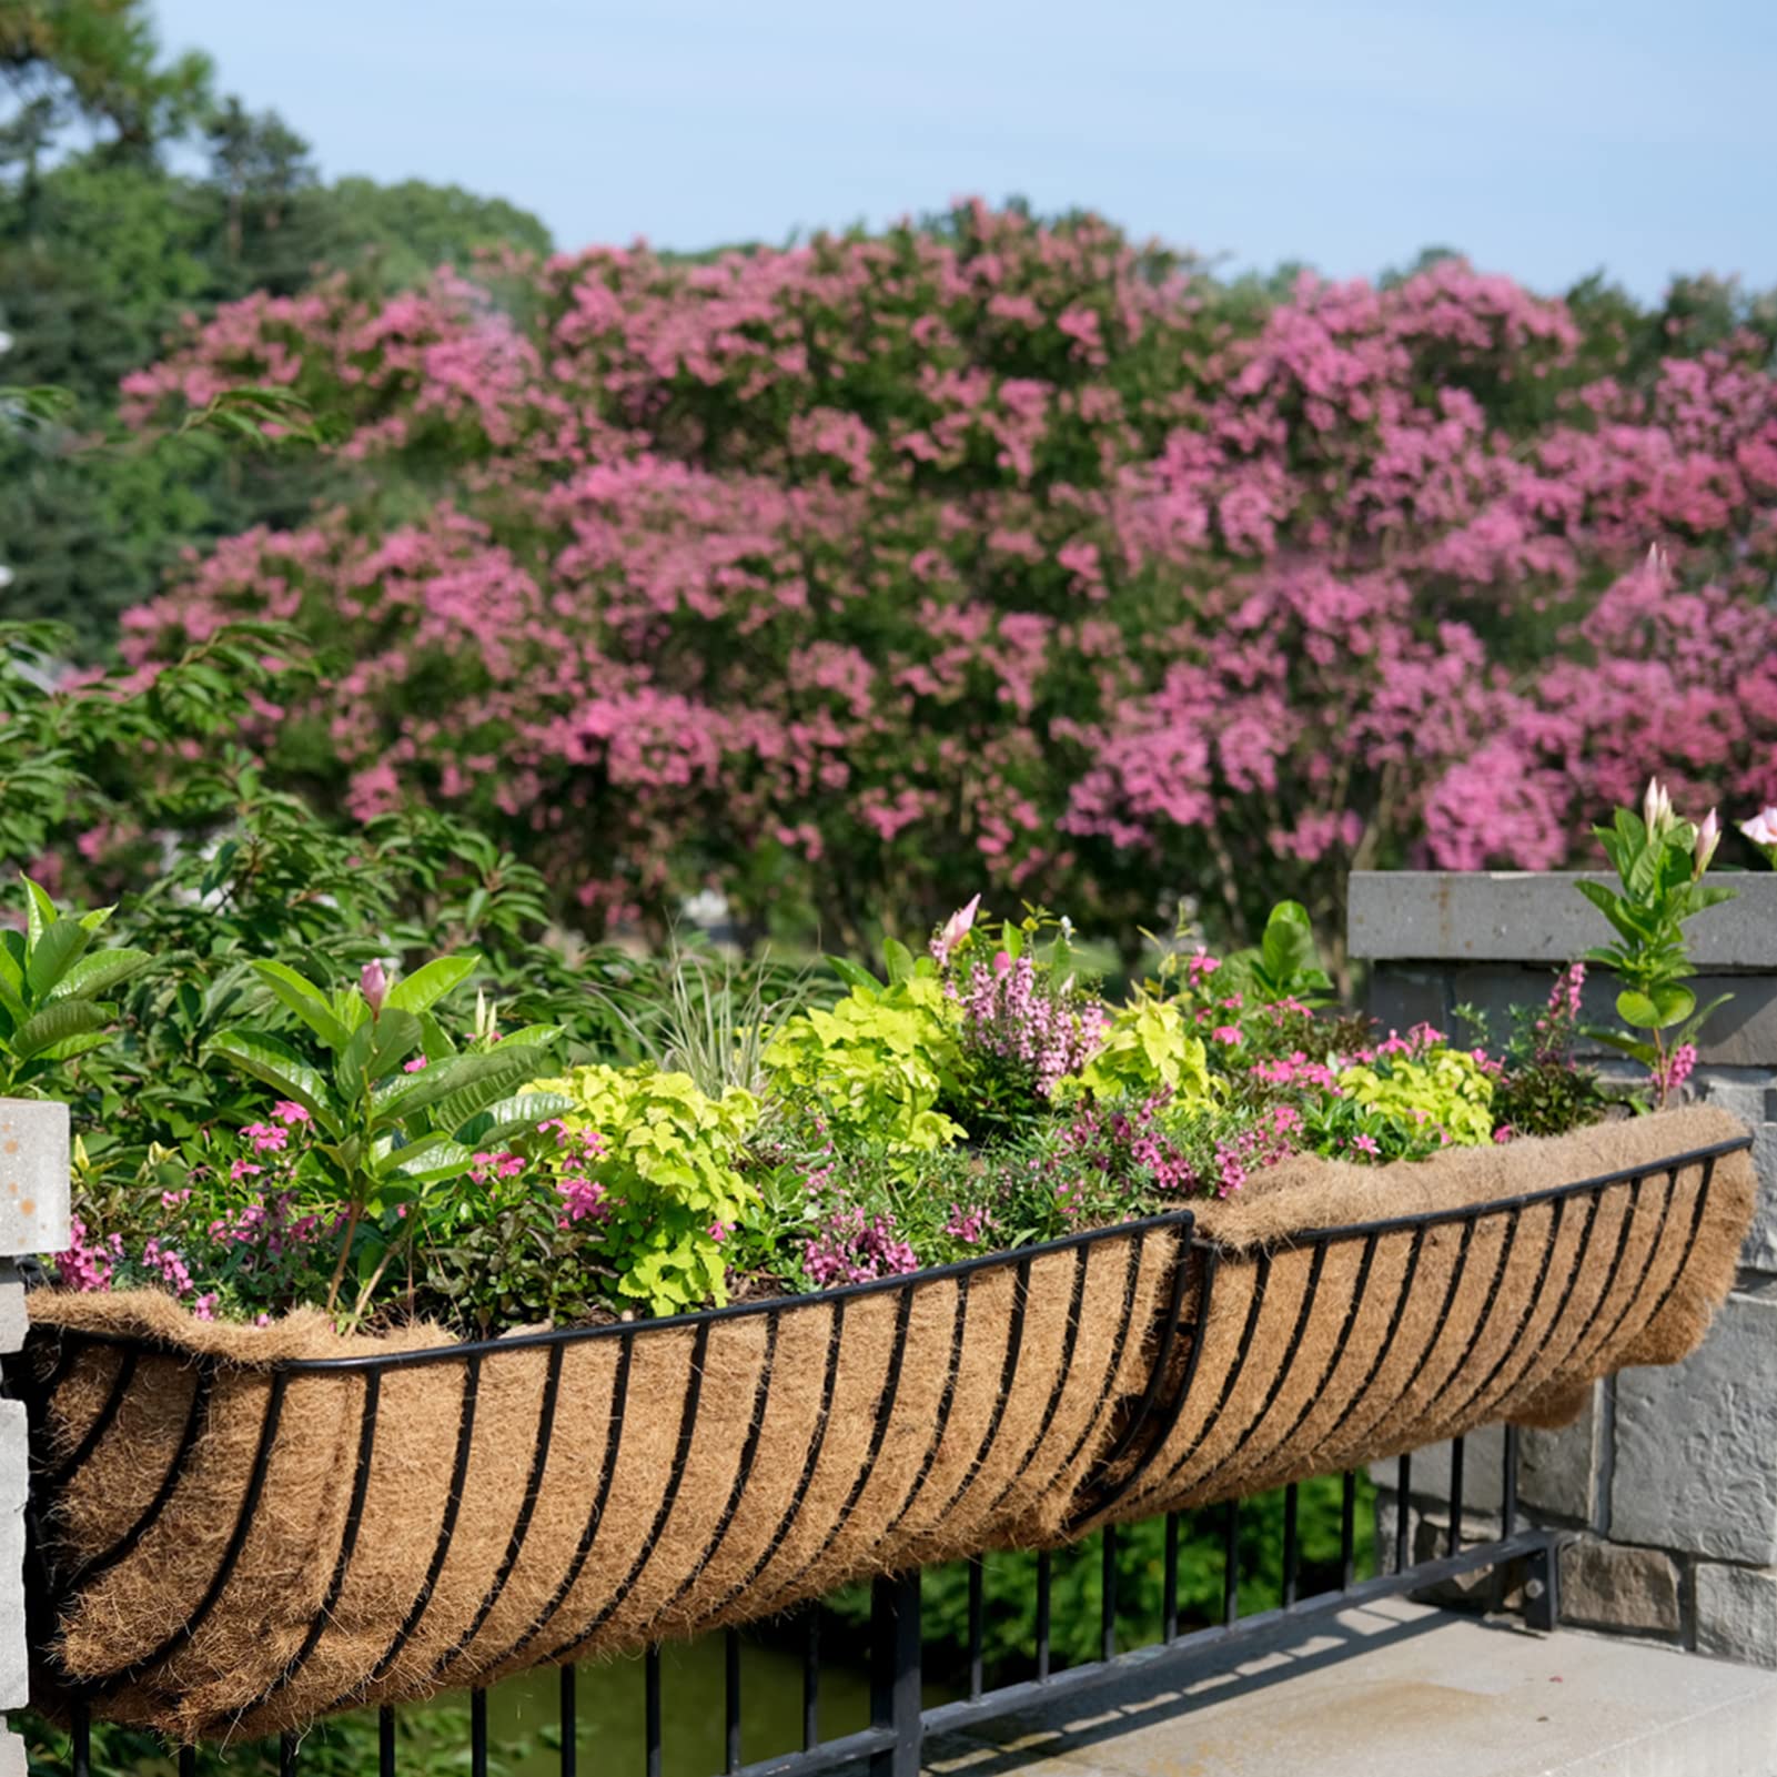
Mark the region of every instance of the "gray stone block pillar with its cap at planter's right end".
[[[1354, 874], [1349, 942], [1370, 965], [1370, 1011], [1397, 1029], [1425, 1020], [1450, 1031], [1466, 1004], [1503, 1036], [1512, 1004], [1541, 1002], [1557, 968], [1610, 936], [1576, 880]], [[1690, 1093], [1756, 1137], [1761, 1205], [1740, 1281], [1686, 1363], [1624, 1370], [1598, 1384], [1569, 1430], [1526, 1432], [1519, 1498], [1534, 1523], [1573, 1532], [1560, 1567], [1566, 1621], [1777, 1667], [1777, 876], [1724, 880], [1740, 897], [1697, 917], [1692, 960], [1701, 999], [1734, 999], [1702, 1032]], [[1587, 1016], [1615, 1022], [1614, 997], [1606, 977], [1589, 981]], [[1414, 1459], [1406, 1509], [1416, 1550], [1448, 1523], [1446, 1477], [1443, 1452]], [[1391, 1550], [1393, 1464], [1375, 1480], [1381, 1546]], [[1502, 1434], [1471, 1438], [1462, 1498], [1475, 1534], [1498, 1512], [1500, 1486]]]

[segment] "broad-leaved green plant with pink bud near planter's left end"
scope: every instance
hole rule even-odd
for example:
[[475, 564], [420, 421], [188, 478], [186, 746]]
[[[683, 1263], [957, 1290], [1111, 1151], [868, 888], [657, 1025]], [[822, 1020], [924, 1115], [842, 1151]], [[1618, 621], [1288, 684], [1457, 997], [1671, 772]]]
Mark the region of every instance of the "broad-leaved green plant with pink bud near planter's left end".
[[252, 974], [307, 1025], [329, 1063], [316, 1066], [263, 1029], [222, 1031], [208, 1045], [211, 1056], [313, 1120], [311, 1153], [343, 1208], [325, 1306], [338, 1310], [355, 1262], [359, 1290], [348, 1324], [363, 1319], [391, 1262], [432, 1219], [441, 1187], [466, 1178], [478, 1151], [535, 1137], [540, 1121], [569, 1109], [560, 1095], [517, 1091], [537, 1073], [553, 1027], [530, 1025], [494, 1045], [483, 1018], [482, 1047], [464, 1054], [432, 1015], [476, 961], [439, 956], [394, 983], [380, 963], [366, 963], [355, 986], [331, 995], [286, 963], [256, 961]]

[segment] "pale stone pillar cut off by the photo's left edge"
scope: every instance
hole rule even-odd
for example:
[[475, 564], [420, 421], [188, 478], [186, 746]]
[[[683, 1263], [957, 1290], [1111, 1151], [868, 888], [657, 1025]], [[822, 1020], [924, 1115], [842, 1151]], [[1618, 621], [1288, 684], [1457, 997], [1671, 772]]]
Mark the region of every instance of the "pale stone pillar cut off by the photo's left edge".
[[[0, 1098], [0, 1351], [25, 1343], [18, 1258], [68, 1246], [68, 1107]], [[25, 1407], [0, 1400], [0, 1709], [23, 1709]], [[0, 1731], [0, 1777], [25, 1777], [25, 1743]]]

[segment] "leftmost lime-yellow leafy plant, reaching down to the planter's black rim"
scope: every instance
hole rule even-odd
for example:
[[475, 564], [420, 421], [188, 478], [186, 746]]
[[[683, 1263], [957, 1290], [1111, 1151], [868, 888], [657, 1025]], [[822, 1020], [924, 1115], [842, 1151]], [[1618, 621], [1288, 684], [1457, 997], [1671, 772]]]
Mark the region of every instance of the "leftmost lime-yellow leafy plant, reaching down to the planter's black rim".
[[[592, 1137], [588, 1212], [617, 1292], [657, 1315], [725, 1303], [723, 1244], [759, 1201], [739, 1169], [759, 1120], [753, 1095], [730, 1086], [711, 1096], [688, 1073], [652, 1066], [576, 1068], [537, 1089], [563, 1105], [569, 1155], [586, 1155]], [[574, 1160], [546, 1164], [565, 1173]]]

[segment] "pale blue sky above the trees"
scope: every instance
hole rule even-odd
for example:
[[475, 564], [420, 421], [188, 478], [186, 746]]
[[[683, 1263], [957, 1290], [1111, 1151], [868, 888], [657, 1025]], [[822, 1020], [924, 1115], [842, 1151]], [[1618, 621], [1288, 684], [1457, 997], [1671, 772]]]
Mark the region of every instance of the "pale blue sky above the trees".
[[1777, 4], [160, 0], [329, 176], [510, 197], [563, 247], [784, 240], [979, 194], [1235, 268], [1450, 245], [1777, 284]]

